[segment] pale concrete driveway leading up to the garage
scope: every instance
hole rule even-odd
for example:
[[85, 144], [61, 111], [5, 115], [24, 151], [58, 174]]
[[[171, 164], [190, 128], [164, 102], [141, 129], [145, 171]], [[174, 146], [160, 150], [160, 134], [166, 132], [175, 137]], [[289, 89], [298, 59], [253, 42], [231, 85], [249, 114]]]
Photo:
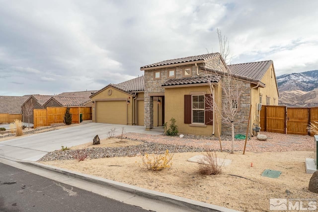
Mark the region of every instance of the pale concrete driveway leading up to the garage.
[[120, 135], [123, 127], [125, 133], [162, 134], [162, 132], [158, 131], [146, 131], [143, 126], [87, 123], [76, 127], [1, 141], [0, 157], [4, 156], [18, 160], [37, 161], [47, 152], [61, 149], [61, 145], [71, 147], [92, 142], [96, 135], [98, 135], [100, 139], [107, 138], [107, 133], [113, 128], [116, 129], [115, 135]]

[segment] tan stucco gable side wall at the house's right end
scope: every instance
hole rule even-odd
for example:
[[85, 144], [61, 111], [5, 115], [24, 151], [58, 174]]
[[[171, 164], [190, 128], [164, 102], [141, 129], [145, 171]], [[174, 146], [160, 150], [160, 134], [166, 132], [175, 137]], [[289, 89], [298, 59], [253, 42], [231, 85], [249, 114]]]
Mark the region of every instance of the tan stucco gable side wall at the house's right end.
[[273, 65], [268, 68], [261, 81], [265, 84], [264, 88], [259, 88], [262, 105], [266, 105], [266, 97], [270, 98], [269, 105], [278, 105], [278, 91]]

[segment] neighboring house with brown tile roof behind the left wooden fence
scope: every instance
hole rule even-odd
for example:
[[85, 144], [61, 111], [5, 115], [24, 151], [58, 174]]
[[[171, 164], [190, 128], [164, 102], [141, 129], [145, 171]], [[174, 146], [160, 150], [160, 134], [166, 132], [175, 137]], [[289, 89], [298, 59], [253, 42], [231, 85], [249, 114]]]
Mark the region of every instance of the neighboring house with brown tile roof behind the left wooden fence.
[[22, 120], [28, 122], [26, 115], [27, 108], [32, 109], [30, 123], [33, 124], [33, 109], [45, 109], [47, 107], [91, 107], [89, 97], [70, 97], [70, 96], [52, 96], [52, 95], [31, 95], [21, 106]]

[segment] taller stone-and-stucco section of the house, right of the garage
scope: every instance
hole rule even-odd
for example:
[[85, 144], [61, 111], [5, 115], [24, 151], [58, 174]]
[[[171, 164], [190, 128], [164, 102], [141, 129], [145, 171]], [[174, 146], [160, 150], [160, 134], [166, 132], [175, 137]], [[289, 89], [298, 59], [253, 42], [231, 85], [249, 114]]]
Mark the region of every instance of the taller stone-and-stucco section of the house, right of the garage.
[[[222, 107], [225, 98], [215, 73], [232, 71], [243, 91], [237, 105], [235, 134], [245, 134], [249, 108], [251, 123], [259, 125], [258, 103], [277, 104], [278, 89], [272, 61], [227, 66], [219, 53], [172, 59], [141, 67], [145, 71], [145, 127], [153, 128], [153, 99], [162, 98], [164, 120], [176, 119], [180, 133], [217, 135], [216, 119], [222, 134], [231, 134], [231, 125], [221, 122], [215, 110], [207, 111], [205, 99], [214, 92]], [[212, 89], [210, 88], [210, 85]], [[276, 103], [275, 103], [276, 102]], [[194, 107], [194, 105], [197, 105]], [[252, 125], [250, 125], [250, 129]]]

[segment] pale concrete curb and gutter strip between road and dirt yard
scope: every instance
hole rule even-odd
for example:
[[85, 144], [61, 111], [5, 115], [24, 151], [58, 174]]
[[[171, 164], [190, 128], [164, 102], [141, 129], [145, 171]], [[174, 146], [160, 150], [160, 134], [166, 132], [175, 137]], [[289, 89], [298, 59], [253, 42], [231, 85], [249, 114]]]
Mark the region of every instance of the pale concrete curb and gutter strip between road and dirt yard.
[[13, 161], [0, 157], [0, 162], [84, 189], [126, 204], [156, 212], [237, 212], [199, 201], [143, 189], [100, 177], [44, 165], [36, 162]]

